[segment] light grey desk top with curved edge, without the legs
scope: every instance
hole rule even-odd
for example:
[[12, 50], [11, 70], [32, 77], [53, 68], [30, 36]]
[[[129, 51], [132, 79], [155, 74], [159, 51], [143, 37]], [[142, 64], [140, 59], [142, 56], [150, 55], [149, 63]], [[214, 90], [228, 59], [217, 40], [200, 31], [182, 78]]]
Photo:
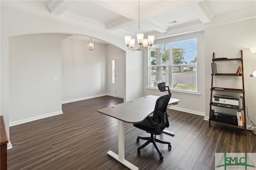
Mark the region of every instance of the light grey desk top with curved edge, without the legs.
[[[148, 95], [97, 111], [127, 123], [140, 123], [154, 111], [156, 100], [159, 97]], [[169, 104], [178, 103], [179, 101], [178, 99], [170, 98]]]

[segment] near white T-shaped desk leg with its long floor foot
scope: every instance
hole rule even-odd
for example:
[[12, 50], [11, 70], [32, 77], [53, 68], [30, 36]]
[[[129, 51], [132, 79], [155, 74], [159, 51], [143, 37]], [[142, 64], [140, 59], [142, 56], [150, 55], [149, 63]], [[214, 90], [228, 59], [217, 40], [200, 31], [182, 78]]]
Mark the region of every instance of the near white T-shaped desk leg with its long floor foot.
[[108, 154], [124, 164], [126, 167], [130, 168], [131, 170], [138, 170], [139, 168], [134, 164], [131, 164], [127, 160], [124, 159], [124, 122], [118, 120], [118, 154], [114, 153], [113, 151], [109, 150]]

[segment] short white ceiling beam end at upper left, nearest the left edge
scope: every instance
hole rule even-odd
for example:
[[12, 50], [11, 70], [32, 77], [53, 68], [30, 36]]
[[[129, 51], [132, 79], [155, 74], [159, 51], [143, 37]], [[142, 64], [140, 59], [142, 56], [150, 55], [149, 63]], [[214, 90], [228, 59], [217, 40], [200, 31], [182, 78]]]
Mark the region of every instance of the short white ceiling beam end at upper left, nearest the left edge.
[[50, 0], [47, 6], [51, 14], [60, 16], [74, 3], [76, 0]]

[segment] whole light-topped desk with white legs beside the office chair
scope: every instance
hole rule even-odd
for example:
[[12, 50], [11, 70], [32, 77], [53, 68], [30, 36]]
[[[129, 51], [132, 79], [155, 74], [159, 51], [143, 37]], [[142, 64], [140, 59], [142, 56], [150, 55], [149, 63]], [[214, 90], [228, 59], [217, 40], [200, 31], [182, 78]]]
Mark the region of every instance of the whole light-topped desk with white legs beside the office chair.
[[[149, 95], [97, 110], [100, 113], [118, 119], [118, 154], [111, 150], [109, 150], [107, 153], [131, 170], [138, 170], [139, 168], [124, 159], [124, 122], [142, 122], [144, 119], [146, 119], [146, 117], [148, 117], [148, 115], [150, 115], [150, 113], [154, 111], [156, 100], [158, 98], [159, 96]], [[178, 99], [170, 98], [169, 104], [178, 104], [179, 101], [180, 100]], [[169, 131], [166, 133], [168, 132]], [[169, 134], [171, 134], [171, 132]]]

